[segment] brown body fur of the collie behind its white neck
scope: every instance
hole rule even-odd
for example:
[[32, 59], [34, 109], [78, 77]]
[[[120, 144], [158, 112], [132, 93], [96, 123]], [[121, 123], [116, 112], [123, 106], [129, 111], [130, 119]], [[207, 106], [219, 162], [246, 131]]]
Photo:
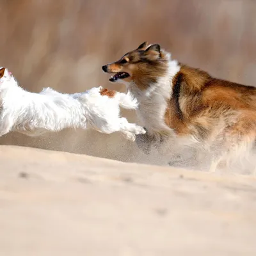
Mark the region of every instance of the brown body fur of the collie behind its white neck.
[[[228, 132], [256, 135], [256, 88], [216, 79], [196, 68], [181, 65], [172, 81], [173, 95], [164, 116], [178, 135], [192, 133], [204, 140], [223, 118]], [[228, 116], [241, 113], [229, 127]]]

